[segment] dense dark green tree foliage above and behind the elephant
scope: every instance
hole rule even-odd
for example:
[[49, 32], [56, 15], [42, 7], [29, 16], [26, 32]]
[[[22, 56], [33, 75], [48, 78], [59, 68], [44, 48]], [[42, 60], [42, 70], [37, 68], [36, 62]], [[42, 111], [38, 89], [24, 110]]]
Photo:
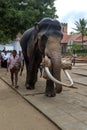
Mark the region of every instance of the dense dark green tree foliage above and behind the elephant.
[[0, 42], [13, 40], [44, 17], [58, 18], [54, 1], [0, 0]]

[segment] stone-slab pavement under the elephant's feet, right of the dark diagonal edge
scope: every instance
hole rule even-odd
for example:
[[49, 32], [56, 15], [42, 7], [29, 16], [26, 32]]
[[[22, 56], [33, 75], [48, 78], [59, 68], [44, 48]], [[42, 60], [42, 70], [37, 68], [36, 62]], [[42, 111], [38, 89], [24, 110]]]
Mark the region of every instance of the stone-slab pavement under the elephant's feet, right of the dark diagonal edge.
[[[36, 89], [33, 91], [26, 90], [24, 86], [25, 72], [23, 72], [22, 77], [19, 77], [20, 87], [16, 91], [56, 125], [60, 126], [62, 130], [87, 130], [86, 72], [87, 64], [76, 64], [69, 73], [77, 89], [63, 87], [62, 93], [57, 94], [54, 98], [48, 98], [44, 95], [45, 80], [39, 76]], [[9, 73], [5, 70], [3, 73], [0, 70], [0, 77], [11, 84]], [[68, 82], [63, 73], [62, 80]]]

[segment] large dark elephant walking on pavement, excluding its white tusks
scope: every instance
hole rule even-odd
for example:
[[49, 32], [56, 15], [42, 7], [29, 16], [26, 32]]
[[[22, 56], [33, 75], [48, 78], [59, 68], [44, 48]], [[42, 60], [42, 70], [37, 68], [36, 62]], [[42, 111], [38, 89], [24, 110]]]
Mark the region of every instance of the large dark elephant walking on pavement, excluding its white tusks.
[[[26, 89], [35, 89], [40, 63], [47, 57], [50, 61], [49, 72], [61, 82], [61, 40], [63, 33], [58, 20], [49, 17], [36, 22], [26, 30], [20, 40], [26, 65]], [[62, 84], [46, 80], [45, 95], [56, 96], [62, 92]]]

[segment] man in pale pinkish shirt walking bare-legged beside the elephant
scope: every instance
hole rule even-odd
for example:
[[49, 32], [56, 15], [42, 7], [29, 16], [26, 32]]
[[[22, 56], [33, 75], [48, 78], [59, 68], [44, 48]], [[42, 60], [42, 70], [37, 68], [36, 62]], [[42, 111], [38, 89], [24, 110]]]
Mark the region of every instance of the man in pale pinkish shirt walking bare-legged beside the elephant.
[[19, 55], [17, 55], [16, 50], [13, 50], [12, 55], [8, 59], [7, 63], [8, 63], [7, 71], [8, 71], [8, 67], [9, 67], [10, 73], [11, 73], [12, 86], [15, 85], [15, 88], [18, 88], [18, 84], [17, 84], [18, 83], [18, 72], [20, 70], [21, 61], [20, 61]]

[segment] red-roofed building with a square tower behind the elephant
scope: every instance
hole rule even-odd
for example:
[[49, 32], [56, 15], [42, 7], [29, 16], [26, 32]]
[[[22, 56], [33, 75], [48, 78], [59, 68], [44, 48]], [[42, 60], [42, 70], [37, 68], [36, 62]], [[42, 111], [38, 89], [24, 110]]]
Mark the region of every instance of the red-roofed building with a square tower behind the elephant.
[[[68, 51], [71, 50], [72, 44], [81, 44], [82, 45], [82, 35], [81, 33], [75, 33], [75, 34], [68, 34], [67, 33], [67, 24], [61, 23], [62, 26], [62, 32], [63, 32], [63, 39], [61, 41], [61, 50], [62, 54], [66, 54]], [[87, 48], [87, 36], [83, 37], [83, 46]]]

